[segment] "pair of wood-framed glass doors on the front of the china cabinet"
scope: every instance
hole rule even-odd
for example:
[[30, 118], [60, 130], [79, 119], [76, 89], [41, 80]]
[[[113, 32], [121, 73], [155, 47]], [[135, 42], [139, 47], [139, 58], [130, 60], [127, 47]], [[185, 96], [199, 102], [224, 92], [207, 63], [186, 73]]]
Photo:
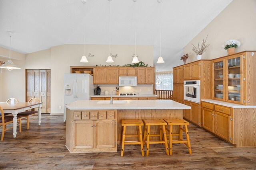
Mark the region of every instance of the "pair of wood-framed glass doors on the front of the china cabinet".
[[213, 61], [213, 99], [244, 104], [243, 56], [237, 54]]

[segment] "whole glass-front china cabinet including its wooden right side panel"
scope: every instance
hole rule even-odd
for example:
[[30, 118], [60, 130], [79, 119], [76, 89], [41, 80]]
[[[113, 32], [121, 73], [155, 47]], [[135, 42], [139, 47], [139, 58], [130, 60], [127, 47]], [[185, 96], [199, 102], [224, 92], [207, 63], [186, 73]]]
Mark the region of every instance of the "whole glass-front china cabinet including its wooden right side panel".
[[212, 61], [212, 99], [256, 105], [256, 57], [242, 52]]

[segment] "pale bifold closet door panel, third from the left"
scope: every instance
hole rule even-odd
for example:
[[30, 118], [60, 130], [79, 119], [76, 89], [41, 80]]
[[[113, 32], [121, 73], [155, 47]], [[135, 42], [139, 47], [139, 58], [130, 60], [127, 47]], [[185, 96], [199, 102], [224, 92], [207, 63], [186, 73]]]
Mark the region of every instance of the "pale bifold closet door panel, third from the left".
[[43, 102], [42, 104], [42, 113], [47, 113], [46, 109], [46, 70], [40, 70], [40, 102]]

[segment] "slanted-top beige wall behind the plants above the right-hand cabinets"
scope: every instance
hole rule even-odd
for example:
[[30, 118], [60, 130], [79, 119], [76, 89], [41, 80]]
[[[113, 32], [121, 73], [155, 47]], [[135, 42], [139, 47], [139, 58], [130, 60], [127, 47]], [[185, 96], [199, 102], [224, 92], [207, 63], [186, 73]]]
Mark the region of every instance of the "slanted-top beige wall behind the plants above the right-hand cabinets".
[[190, 53], [186, 63], [196, 61], [196, 54], [192, 51], [198, 42], [202, 42], [208, 34], [206, 43], [210, 43], [202, 59], [215, 59], [227, 55], [221, 46], [230, 39], [241, 42], [235, 53], [256, 50], [256, 0], [233, 0], [212, 22], [210, 22], [184, 48], [184, 53]]

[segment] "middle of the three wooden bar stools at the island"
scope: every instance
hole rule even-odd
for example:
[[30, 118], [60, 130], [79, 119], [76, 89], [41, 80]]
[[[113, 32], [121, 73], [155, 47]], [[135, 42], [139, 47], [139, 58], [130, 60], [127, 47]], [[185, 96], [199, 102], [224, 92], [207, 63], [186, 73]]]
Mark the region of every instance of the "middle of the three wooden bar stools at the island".
[[[143, 119], [143, 122], [145, 125], [143, 142], [147, 146], [146, 155], [148, 156], [149, 154], [149, 144], [164, 144], [166, 154], [169, 154], [166, 131], [165, 131], [165, 125], [167, 125], [167, 123], [164, 121], [164, 119]], [[159, 134], [150, 134], [150, 126], [159, 126]], [[164, 135], [164, 141], [162, 141], [162, 135]], [[146, 140], [146, 137], [147, 137], [147, 140]], [[150, 137], [160, 137], [160, 140], [150, 141]]]

